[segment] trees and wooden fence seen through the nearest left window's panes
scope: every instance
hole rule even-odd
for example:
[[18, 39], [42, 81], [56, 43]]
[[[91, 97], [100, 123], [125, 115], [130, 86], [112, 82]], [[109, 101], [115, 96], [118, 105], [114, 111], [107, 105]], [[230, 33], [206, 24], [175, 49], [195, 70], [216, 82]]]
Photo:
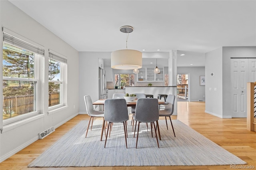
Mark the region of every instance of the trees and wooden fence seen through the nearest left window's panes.
[[3, 43], [3, 119], [36, 111], [35, 54]]

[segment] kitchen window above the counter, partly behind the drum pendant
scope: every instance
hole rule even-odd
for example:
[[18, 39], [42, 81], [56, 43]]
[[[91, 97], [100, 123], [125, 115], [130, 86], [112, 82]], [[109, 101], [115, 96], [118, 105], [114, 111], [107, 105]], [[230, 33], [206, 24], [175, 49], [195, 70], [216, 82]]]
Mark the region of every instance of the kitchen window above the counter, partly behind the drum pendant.
[[115, 86], [134, 86], [134, 74], [115, 74]]

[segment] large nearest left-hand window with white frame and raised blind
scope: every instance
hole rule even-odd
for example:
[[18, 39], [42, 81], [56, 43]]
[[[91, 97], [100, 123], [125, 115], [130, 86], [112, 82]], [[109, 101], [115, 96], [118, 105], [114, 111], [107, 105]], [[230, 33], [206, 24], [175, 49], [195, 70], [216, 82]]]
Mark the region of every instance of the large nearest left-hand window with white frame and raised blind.
[[[3, 120], [38, 114], [38, 62], [44, 50], [6, 34], [3, 42]], [[14, 118], [14, 119], [13, 119]]]

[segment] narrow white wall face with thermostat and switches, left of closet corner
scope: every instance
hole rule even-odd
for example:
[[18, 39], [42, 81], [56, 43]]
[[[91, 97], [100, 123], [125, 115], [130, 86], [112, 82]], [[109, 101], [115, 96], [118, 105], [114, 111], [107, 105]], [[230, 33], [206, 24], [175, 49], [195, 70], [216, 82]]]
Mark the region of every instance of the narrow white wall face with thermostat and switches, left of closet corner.
[[222, 47], [206, 53], [205, 81], [205, 112], [222, 117]]

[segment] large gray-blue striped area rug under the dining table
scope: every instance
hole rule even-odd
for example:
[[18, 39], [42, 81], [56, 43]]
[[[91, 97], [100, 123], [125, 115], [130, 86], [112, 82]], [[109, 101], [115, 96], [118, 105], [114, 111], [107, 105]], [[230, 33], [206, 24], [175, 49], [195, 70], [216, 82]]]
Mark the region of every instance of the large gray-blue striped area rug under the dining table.
[[[91, 131], [85, 132], [88, 121], [81, 121], [62, 138], [44, 151], [28, 167], [86, 167], [86, 166], [206, 166], [246, 164], [243, 160], [218, 146], [184, 123], [173, 120], [176, 137], [169, 123], [159, 120], [158, 148], [150, 127], [140, 124], [138, 148], [132, 126], [128, 122], [128, 148], [125, 146], [122, 123], [114, 123], [104, 148], [100, 141], [102, 121], [96, 120]], [[154, 134], [154, 130], [153, 130]]]

